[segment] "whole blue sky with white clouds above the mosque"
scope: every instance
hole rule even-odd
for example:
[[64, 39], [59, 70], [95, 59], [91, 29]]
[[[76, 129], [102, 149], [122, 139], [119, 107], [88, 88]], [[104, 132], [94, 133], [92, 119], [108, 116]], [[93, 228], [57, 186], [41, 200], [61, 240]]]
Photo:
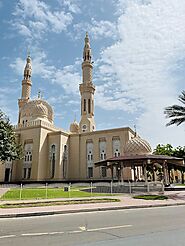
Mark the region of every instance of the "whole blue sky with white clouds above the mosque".
[[136, 125], [152, 145], [185, 145], [185, 124], [164, 108], [185, 84], [184, 0], [0, 0], [0, 109], [17, 124], [28, 51], [32, 99], [41, 91], [68, 130], [80, 121], [79, 84], [88, 31], [97, 130]]

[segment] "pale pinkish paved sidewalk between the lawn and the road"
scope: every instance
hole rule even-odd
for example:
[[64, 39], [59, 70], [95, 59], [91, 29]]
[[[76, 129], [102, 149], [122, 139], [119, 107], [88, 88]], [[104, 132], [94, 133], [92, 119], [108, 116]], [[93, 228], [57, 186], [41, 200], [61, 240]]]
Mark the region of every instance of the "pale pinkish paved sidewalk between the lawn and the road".
[[[27, 207], [27, 208], [0, 208], [0, 218], [12, 217], [28, 217], [28, 216], [41, 216], [77, 212], [91, 212], [91, 211], [106, 211], [118, 209], [132, 209], [132, 208], [147, 208], [147, 207], [163, 207], [174, 205], [185, 205], [185, 192], [165, 192], [169, 195], [168, 200], [141, 200], [134, 199], [130, 195], [124, 194], [121, 196], [107, 196], [106, 198], [119, 198], [120, 202], [107, 202], [107, 203], [93, 203], [93, 204], [72, 204], [72, 205], [56, 205], [44, 207]], [[94, 197], [93, 197], [94, 198]], [[96, 197], [100, 198], [100, 197]], [[101, 197], [102, 198], [102, 197]], [[81, 199], [81, 198], [80, 198]], [[41, 201], [60, 201], [67, 199], [47, 199], [47, 200], [26, 200], [20, 202], [41, 202]], [[71, 199], [74, 200], [74, 199]], [[3, 203], [18, 203], [19, 201], [1, 201]]]

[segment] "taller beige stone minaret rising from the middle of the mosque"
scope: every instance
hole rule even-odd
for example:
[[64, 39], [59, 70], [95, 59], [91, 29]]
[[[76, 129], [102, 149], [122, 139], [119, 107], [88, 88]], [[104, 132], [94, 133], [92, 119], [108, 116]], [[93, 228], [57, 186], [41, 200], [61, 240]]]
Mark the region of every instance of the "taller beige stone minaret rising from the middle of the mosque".
[[95, 130], [94, 121], [94, 92], [95, 86], [92, 82], [93, 65], [91, 62], [91, 47], [88, 33], [85, 36], [85, 46], [82, 62], [82, 84], [81, 94], [81, 120], [80, 132], [91, 132]]

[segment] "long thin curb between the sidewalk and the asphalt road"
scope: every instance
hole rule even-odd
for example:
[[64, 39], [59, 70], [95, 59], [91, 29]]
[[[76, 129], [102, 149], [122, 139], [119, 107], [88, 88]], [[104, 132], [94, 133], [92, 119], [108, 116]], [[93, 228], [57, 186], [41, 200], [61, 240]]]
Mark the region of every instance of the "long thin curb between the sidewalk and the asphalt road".
[[20, 217], [34, 217], [34, 216], [46, 216], [55, 214], [70, 214], [70, 213], [83, 213], [83, 212], [98, 212], [98, 211], [115, 211], [124, 209], [137, 209], [137, 208], [159, 208], [159, 207], [173, 207], [173, 206], [184, 206], [185, 202], [173, 203], [173, 204], [155, 204], [155, 205], [133, 205], [133, 206], [122, 206], [122, 207], [108, 207], [108, 208], [87, 208], [87, 209], [71, 209], [61, 211], [43, 211], [43, 212], [29, 212], [29, 213], [14, 213], [14, 214], [2, 214], [0, 218], [20, 218]]

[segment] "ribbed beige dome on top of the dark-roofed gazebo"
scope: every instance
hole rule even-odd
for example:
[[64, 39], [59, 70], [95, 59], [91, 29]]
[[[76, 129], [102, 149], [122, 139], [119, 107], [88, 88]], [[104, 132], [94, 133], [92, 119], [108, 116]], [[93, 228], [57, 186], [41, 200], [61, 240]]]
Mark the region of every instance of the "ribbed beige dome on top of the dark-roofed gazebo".
[[127, 142], [124, 153], [125, 155], [147, 155], [152, 153], [152, 148], [146, 140], [136, 136]]

